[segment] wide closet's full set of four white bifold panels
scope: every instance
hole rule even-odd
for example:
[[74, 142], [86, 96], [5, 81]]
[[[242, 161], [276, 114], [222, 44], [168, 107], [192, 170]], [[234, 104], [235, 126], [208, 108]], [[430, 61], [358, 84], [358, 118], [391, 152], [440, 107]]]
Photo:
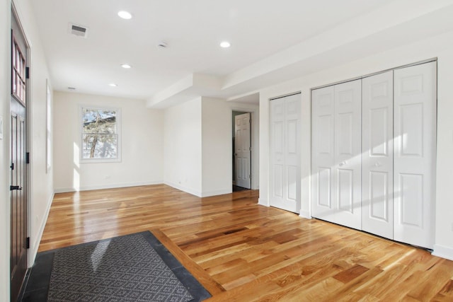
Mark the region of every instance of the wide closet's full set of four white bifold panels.
[[428, 62], [311, 91], [311, 216], [432, 248], [436, 83]]

